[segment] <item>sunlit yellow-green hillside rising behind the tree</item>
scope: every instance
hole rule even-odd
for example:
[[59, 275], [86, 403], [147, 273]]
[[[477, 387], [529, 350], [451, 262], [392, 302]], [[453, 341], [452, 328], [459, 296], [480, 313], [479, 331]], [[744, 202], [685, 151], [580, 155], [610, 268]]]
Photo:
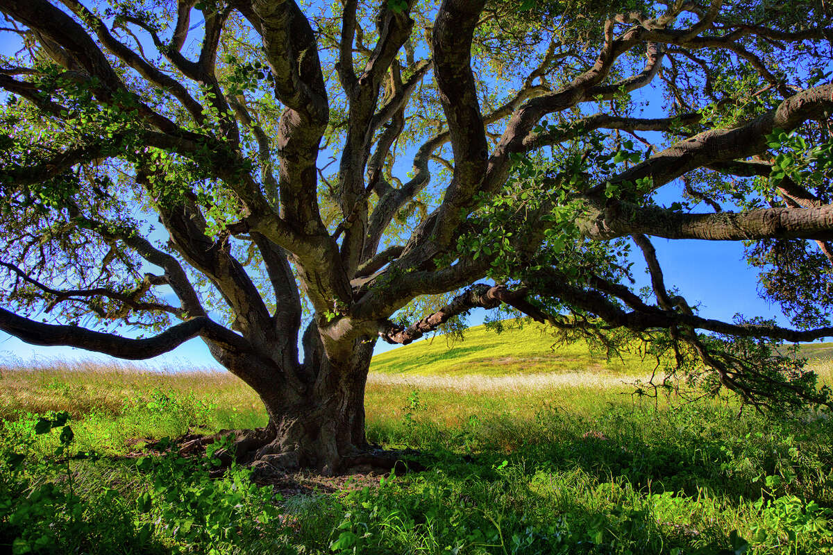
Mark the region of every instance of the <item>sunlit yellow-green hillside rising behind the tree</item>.
[[[833, 359], [833, 343], [801, 345], [801, 356], [813, 361]], [[606, 360], [587, 344], [554, 344], [545, 326], [527, 325], [501, 334], [485, 325], [466, 331], [465, 339], [450, 342], [437, 335], [377, 354], [372, 372], [384, 374], [517, 374], [590, 370], [613, 374], [651, 372], [656, 360], [636, 355]]]

